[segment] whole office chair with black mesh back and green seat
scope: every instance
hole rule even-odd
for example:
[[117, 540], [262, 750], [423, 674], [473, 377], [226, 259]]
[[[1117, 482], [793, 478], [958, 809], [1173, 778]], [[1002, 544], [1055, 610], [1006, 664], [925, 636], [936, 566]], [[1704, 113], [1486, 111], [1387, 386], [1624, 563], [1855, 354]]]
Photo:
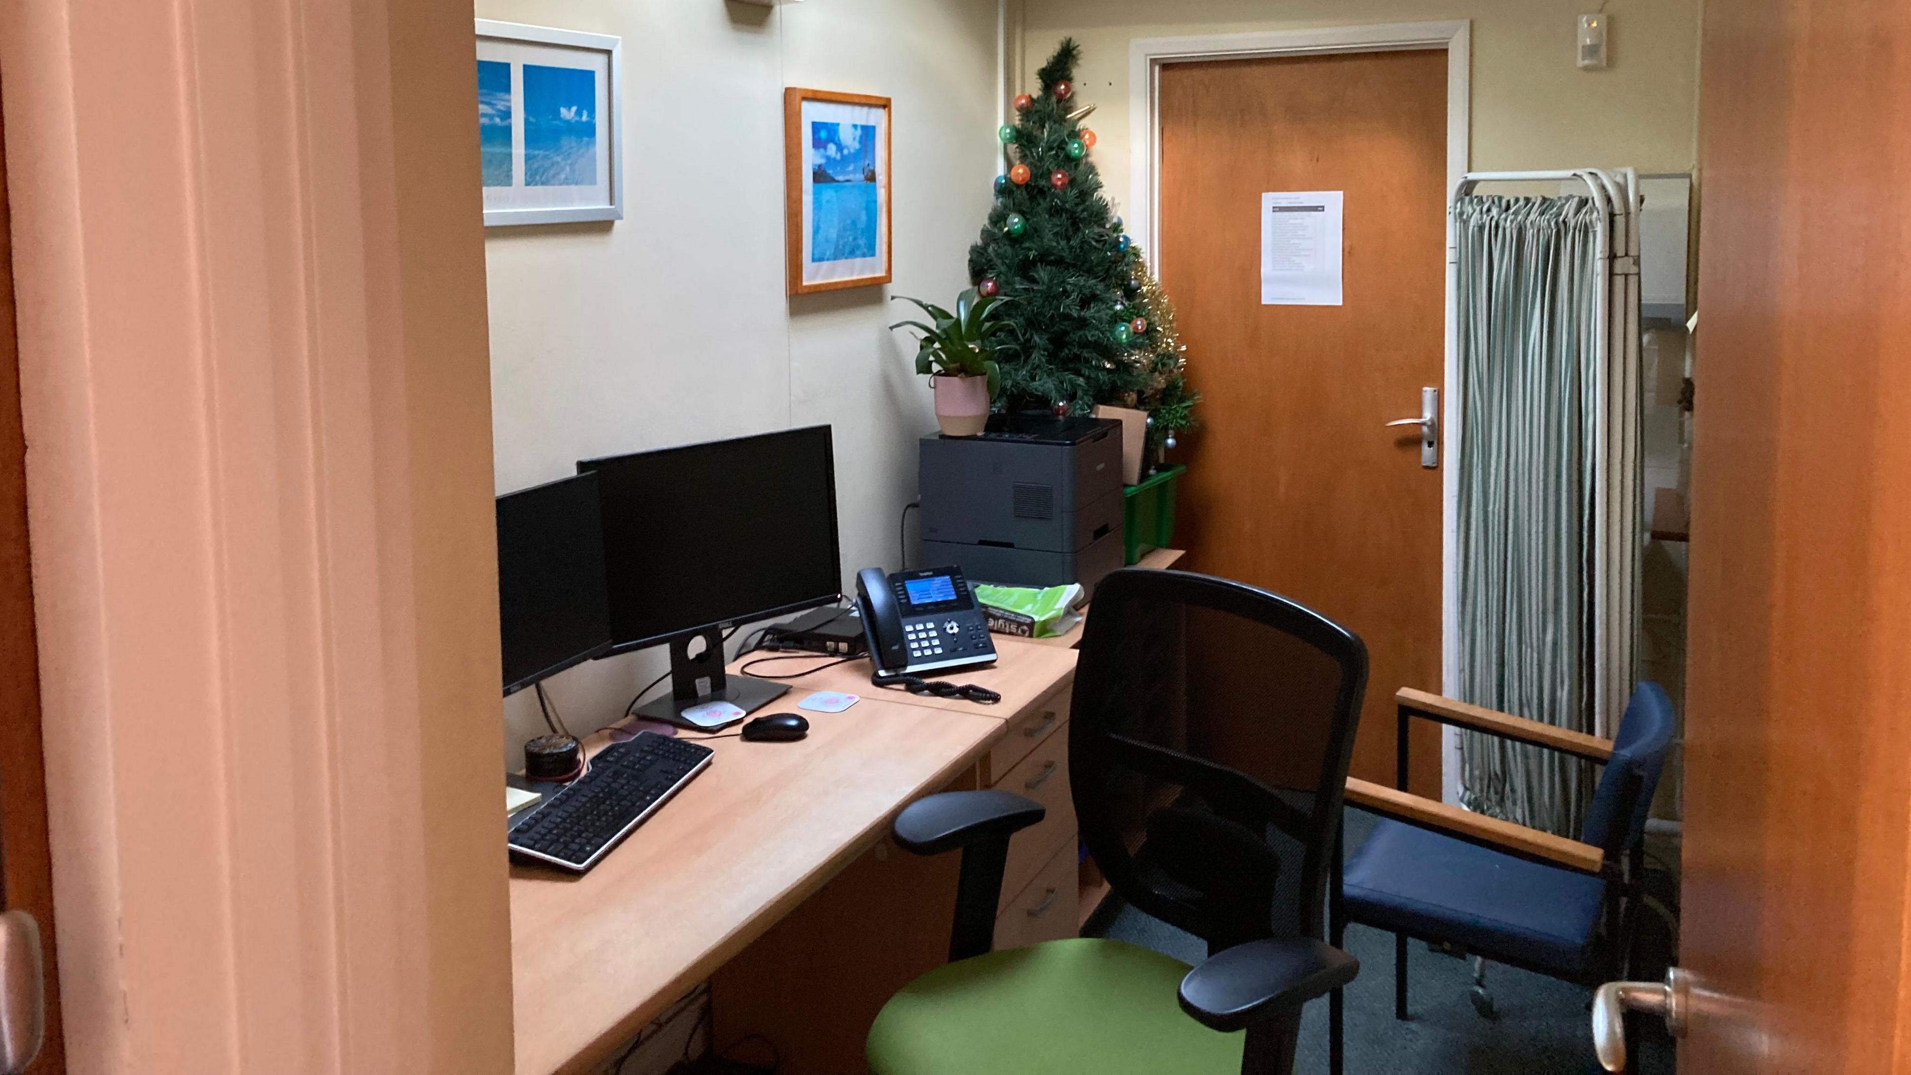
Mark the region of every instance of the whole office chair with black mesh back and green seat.
[[1009, 840], [1045, 811], [1001, 788], [927, 796], [891, 834], [961, 851], [950, 962], [875, 1018], [870, 1069], [1292, 1075], [1301, 1008], [1361, 970], [1321, 937], [1364, 692], [1361, 639], [1284, 597], [1103, 578], [1068, 710], [1074, 813], [1114, 895], [1208, 958], [1093, 937], [992, 953]]

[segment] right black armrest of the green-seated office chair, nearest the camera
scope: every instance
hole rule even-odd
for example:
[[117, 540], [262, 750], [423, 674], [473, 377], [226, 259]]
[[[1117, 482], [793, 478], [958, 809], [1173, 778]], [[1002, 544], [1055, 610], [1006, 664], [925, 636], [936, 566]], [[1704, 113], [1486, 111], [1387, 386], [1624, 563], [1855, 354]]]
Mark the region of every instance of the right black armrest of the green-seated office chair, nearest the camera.
[[1313, 937], [1248, 941], [1212, 954], [1181, 979], [1181, 1010], [1238, 1031], [1353, 981], [1361, 960]]

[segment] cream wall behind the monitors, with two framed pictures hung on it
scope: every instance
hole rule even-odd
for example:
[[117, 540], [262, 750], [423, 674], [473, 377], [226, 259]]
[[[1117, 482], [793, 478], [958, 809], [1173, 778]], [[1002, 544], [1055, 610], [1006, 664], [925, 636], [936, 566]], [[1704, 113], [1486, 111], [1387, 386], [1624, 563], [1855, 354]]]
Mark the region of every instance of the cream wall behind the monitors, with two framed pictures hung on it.
[[[589, 455], [835, 425], [845, 581], [898, 566], [925, 383], [889, 295], [954, 298], [996, 174], [996, 4], [478, 0], [623, 38], [627, 214], [487, 231], [497, 488]], [[785, 298], [784, 86], [894, 98], [894, 285]], [[910, 352], [913, 354], [913, 352]], [[573, 731], [621, 713], [659, 652], [550, 681]], [[539, 733], [506, 700], [506, 759]]]

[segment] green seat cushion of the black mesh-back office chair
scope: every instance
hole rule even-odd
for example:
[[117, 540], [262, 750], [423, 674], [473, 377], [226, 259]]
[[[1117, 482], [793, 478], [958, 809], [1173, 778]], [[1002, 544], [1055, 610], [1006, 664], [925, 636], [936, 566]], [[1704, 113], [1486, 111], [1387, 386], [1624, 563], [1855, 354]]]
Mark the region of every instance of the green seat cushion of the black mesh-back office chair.
[[[1189, 966], [1082, 937], [936, 968], [870, 1027], [873, 1075], [1235, 1075], [1242, 1033], [1175, 1004]], [[1085, 1065], [1085, 1067], [1084, 1067]]]

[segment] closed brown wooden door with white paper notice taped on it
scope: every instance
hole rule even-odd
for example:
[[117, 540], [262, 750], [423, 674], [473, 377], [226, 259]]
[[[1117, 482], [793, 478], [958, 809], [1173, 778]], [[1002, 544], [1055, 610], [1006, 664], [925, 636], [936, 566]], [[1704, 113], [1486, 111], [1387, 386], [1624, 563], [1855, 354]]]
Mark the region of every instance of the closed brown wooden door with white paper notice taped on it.
[[[1353, 773], [1393, 784], [1399, 687], [1441, 683], [1441, 472], [1420, 388], [1443, 386], [1447, 52], [1168, 65], [1160, 277], [1202, 392], [1183, 526], [1192, 570], [1357, 631], [1372, 671]], [[1343, 191], [1343, 304], [1261, 304], [1261, 193]], [[1439, 729], [1412, 788], [1439, 796]]]

